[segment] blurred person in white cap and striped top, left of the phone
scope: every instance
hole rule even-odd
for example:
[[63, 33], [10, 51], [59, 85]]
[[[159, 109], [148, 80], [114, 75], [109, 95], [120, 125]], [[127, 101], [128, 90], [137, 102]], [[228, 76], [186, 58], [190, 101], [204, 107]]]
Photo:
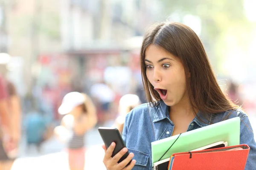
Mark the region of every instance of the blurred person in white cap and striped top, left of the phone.
[[86, 94], [70, 92], [64, 96], [58, 113], [67, 114], [54, 131], [60, 140], [67, 142], [70, 170], [84, 170], [84, 135], [96, 125], [96, 108]]

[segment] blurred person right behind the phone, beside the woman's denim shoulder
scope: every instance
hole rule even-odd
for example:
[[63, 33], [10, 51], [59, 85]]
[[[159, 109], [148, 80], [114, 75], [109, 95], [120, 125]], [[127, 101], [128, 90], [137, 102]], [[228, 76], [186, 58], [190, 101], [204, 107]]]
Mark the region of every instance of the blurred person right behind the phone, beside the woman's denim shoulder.
[[125, 123], [125, 116], [136, 106], [140, 105], [140, 98], [136, 94], [125, 94], [119, 100], [119, 115], [116, 118], [113, 127], [116, 127], [122, 135], [122, 130]]

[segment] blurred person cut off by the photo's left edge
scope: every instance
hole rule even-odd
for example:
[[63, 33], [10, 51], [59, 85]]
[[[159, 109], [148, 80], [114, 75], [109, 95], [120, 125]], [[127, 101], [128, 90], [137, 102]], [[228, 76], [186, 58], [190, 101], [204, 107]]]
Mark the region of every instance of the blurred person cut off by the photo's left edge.
[[20, 141], [21, 109], [15, 85], [7, 79], [8, 54], [0, 58], [0, 170], [10, 170]]

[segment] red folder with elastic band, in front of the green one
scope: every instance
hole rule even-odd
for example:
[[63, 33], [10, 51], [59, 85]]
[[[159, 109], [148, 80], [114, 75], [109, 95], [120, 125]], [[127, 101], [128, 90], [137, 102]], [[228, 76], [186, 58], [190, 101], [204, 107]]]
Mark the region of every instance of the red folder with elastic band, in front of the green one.
[[[241, 147], [241, 150], [228, 150]], [[244, 170], [250, 147], [240, 144], [193, 152], [174, 153], [172, 170]]]

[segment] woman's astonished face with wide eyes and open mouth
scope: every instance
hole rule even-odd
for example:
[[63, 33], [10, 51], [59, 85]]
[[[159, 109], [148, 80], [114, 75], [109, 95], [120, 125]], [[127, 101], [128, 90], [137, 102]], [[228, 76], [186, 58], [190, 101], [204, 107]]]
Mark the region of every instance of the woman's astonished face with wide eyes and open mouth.
[[145, 65], [148, 81], [166, 105], [174, 106], [187, 98], [185, 71], [177, 57], [150, 45], [145, 51]]

